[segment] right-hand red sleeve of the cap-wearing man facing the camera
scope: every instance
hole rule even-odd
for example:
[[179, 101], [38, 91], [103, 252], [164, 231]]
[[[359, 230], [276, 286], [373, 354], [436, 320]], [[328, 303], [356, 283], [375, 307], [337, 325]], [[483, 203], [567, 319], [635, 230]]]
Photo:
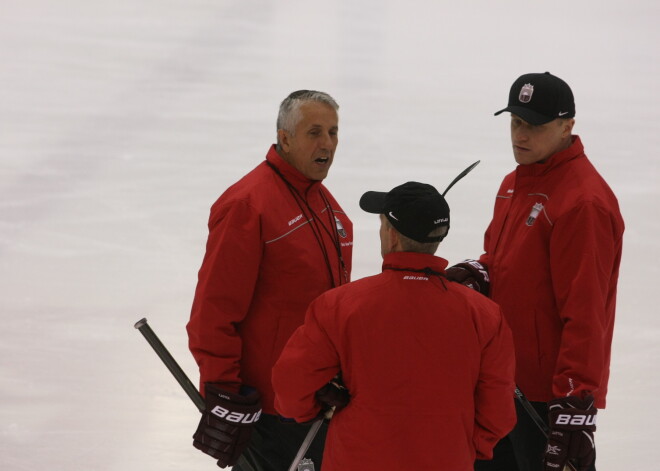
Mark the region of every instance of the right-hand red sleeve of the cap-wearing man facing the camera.
[[615, 296], [621, 244], [616, 231], [610, 213], [593, 203], [560, 217], [552, 231], [550, 268], [563, 323], [555, 397], [593, 393], [607, 377], [614, 323], [608, 297]]

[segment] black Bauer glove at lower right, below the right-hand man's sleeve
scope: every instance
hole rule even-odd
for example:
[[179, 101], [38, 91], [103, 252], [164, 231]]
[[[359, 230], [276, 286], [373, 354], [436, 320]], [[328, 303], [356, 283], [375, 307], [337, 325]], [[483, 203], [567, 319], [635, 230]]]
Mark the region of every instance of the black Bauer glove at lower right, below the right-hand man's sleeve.
[[578, 471], [587, 471], [596, 460], [594, 398], [565, 397], [548, 402], [550, 433], [544, 469], [561, 471], [570, 460]]

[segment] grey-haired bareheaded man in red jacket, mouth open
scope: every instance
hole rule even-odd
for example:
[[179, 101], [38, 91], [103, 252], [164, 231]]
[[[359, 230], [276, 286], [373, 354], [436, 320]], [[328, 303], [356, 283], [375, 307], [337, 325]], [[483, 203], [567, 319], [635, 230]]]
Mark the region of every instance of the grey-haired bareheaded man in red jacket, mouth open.
[[[211, 208], [187, 331], [206, 399], [193, 445], [219, 466], [286, 470], [309, 429], [277, 417], [271, 369], [309, 303], [349, 281], [352, 224], [321, 183], [337, 109], [323, 92], [289, 95], [277, 145]], [[310, 449], [318, 464], [323, 436]]]

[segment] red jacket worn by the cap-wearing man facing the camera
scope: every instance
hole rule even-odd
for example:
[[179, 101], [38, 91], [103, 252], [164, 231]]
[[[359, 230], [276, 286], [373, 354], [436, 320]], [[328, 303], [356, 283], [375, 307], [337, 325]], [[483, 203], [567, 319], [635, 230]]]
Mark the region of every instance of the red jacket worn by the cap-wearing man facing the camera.
[[602, 408], [624, 224], [573, 139], [504, 178], [481, 261], [513, 332], [520, 389], [532, 401], [591, 392]]

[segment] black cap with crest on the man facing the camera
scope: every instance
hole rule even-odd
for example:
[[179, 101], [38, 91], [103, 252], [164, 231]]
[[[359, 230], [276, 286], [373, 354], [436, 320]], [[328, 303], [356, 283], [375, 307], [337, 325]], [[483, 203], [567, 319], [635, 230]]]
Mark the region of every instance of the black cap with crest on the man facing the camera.
[[511, 85], [509, 106], [495, 113], [509, 111], [530, 124], [545, 124], [557, 118], [575, 117], [573, 92], [550, 72], [525, 74]]

